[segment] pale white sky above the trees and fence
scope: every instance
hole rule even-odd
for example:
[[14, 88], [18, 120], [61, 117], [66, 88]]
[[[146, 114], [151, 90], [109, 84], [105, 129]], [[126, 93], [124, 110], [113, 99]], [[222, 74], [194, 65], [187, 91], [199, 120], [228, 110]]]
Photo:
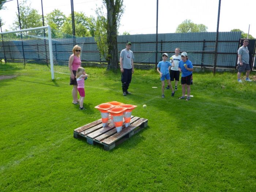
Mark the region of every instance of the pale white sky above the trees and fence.
[[[18, 0], [19, 4], [22, 0]], [[31, 8], [42, 13], [41, 0], [28, 0]], [[54, 9], [65, 15], [71, 13], [70, 0], [42, 0], [44, 16]], [[74, 11], [86, 16], [96, 16], [95, 9], [102, 5], [102, 0], [73, 0]], [[118, 29], [129, 34], [155, 34], [157, 26], [157, 0], [124, 0], [125, 11]], [[219, 0], [158, 0], [158, 33], [175, 33], [176, 28], [185, 19], [196, 24], [204, 24], [209, 32], [217, 31]], [[0, 17], [5, 25], [2, 31], [11, 30], [16, 18], [17, 0], [3, 5]], [[240, 29], [256, 38], [255, 0], [222, 0], [219, 31]], [[250, 25], [250, 29], [249, 29]]]

